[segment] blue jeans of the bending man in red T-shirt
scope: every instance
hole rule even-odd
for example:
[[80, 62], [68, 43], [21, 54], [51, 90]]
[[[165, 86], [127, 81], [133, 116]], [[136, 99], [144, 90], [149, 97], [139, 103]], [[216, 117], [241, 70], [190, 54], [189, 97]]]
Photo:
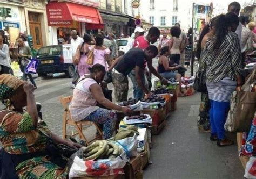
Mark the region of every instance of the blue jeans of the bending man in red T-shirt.
[[[132, 70], [131, 73], [129, 74], [129, 77], [131, 78], [132, 84], [133, 84], [133, 97], [136, 99], [144, 98], [144, 92], [143, 90], [139, 87], [139, 84], [135, 78], [135, 70]], [[141, 74], [142, 77], [142, 84], [144, 87], [147, 89], [149, 88], [149, 83], [147, 82], [146, 75], [143, 73]]]

